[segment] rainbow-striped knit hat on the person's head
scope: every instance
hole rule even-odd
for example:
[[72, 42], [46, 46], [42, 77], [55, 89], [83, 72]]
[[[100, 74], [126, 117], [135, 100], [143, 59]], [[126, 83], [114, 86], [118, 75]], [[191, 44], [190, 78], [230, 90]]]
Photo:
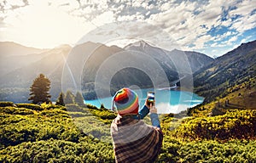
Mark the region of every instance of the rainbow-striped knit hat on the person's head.
[[137, 93], [129, 88], [122, 88], [113, 96], [113, 104], [115, 104], [119, 115], [137, 115], [138, 113], [138, 97]]

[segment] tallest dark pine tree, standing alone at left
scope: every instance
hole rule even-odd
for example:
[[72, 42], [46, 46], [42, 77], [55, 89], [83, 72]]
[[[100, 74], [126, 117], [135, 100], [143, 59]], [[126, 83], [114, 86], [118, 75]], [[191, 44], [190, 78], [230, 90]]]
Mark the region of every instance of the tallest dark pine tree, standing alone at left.
[[44, 74], [40, 74], [32, 83], [30, 87], [30, 98], [28, 100], [32, 100], [32, 104], [39, 103], [50, 103], [50, 94], [49, 87], [50, 81], [44, 76]]

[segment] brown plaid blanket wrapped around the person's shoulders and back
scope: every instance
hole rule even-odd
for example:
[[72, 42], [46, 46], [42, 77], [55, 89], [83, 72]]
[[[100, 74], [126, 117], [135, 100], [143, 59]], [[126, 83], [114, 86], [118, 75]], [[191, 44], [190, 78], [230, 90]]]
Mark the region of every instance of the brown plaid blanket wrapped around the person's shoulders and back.
[[113, 120], [111, 136], [116, 162], [154, 162], [163, 140], [163, 133], [158, 127], [149, 126], [129, 115], [118, 115]]

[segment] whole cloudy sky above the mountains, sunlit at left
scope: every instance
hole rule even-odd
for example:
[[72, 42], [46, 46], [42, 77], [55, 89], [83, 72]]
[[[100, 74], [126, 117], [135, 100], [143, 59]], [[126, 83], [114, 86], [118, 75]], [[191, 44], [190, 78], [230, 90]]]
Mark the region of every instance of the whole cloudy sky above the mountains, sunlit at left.
[[0, 42], [124, 47], [139, 39], [217, 57], [256, 40], [256, 1], [0, 0]]

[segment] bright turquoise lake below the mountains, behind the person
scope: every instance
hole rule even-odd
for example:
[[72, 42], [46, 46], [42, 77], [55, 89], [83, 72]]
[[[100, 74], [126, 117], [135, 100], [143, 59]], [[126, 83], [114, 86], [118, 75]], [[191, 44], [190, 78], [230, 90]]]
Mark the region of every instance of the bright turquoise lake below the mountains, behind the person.
[[[201, 104], [204, 98], [198, 96], [195, 93], [189, 93], [184, 91], [163, 90], [163, 89], [137, 89], [134, 90], [139, 97], [140, 108], [143, 107], [147, 98], [148, 92], [155, 92], [155, 106], [159, 114], [179, 113], [187, 108], [193, 107], [197, 104]], [[105, 108], [110, 109], [112, 104], [112, 97], [98, 98], [94, 100], [84, 100], [85, 104], [92, 104], [96, 107], [100, 107], [104, 104]]]

